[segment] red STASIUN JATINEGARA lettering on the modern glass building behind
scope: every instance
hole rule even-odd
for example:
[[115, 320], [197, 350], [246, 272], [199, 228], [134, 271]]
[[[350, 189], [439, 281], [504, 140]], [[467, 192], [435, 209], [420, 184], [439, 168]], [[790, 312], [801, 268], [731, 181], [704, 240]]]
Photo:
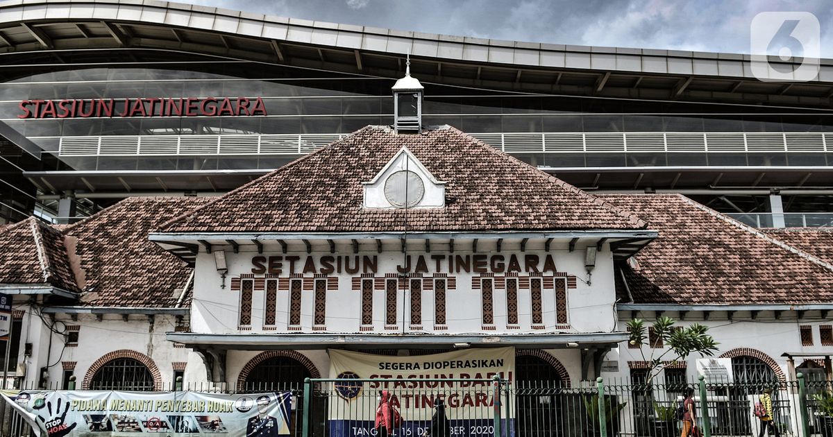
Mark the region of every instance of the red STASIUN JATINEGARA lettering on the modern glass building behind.
[[23, 100], [17, 118], [265, 116], [261, 97]]

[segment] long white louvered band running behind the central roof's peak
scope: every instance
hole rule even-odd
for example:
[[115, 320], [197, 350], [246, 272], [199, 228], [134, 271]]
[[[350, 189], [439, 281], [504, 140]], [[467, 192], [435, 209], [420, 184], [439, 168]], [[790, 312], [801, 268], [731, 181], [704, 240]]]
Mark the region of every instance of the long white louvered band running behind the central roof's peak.
[[[510, 153], [833, 151], [833, 133], [822, 132], [507, 132], [472, 135]], [[58, 155], [298, 155], [317, 151], [346, 136], [332, 133], [61, 137]]]

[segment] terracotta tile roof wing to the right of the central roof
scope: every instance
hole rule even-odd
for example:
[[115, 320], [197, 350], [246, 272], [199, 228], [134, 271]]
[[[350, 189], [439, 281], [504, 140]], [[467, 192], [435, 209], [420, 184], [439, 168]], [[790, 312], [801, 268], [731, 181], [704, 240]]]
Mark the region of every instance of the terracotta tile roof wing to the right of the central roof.
[[833, 302], [833, 266], [684, 196], [604, 198], [659, 231], [637, 266], [622, 266], [636, 303]]

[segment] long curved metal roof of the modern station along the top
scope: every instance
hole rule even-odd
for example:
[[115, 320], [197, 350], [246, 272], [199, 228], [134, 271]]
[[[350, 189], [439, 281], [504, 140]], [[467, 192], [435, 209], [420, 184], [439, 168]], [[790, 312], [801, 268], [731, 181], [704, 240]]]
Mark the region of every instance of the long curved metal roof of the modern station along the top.
[[[403, 32], [156, 0], [0, 4], [0, 62], [152, 49], [375, 77], [596, 97], [830, 107], [833, 60], [812, 82], [761, 82], [749, 55], [584, 47]], [[776, 62], [773, 59], [773, 62]], [[778, 61], [780, 62], [780, 61]]]

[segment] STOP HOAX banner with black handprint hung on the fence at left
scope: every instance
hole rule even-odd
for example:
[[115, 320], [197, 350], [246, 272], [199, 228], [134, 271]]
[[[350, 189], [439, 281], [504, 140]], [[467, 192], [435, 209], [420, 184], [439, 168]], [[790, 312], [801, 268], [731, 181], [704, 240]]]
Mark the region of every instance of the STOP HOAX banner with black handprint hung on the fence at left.
[[42, 437], [289, 434], [291, 392], [220, 395], [127, 391], [20, 391], [4, 396]]

